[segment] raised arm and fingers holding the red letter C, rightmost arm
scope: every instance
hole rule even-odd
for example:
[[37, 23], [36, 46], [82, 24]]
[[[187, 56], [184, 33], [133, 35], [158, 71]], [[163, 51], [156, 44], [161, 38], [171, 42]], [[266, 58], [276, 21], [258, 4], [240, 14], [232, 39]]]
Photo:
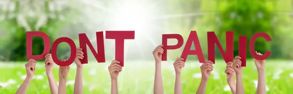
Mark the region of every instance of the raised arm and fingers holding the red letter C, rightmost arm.
[[[262, 56], [262, 54], [255, 52], [256, 55]], [[265, 60], [257, 60], [253, 58], [258, 73], [256, 94], [267, 94], [266, 89], [266, 75], [265, 75]]]

